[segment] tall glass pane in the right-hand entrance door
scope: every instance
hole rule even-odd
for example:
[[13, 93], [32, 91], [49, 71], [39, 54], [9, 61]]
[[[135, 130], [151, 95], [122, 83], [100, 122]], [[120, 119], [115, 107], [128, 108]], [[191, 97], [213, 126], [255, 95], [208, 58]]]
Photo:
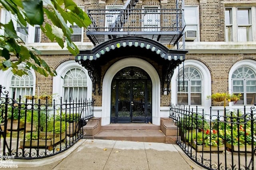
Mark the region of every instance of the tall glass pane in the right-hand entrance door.
[[132, 117], [145, 117], [145, 81], [133, 81]]

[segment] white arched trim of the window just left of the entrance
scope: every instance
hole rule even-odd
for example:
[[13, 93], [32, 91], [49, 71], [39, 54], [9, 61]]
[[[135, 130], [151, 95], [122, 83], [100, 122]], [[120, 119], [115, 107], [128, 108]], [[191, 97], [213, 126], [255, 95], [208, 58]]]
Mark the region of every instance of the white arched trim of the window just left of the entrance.
[[60, 103], [60, 97], [64, 96], [64, 89], [63, 89], [64, 80], [62, 79], [62, 77], [64, 77], [66, 72], [72, 68], [82, 69], [86, 73], [86, 77], [87, 77], [86, 99], [92, 99], [92, 80], [88, 75], [88, 71], [84, 67], [82, 67], [80, 64], [75, 62], [74, 60], [70, 60], [60, 64], [56, 69], [57, 75], [53, 77], [52, 94], [56, 94], [54, 95], [54, 99], [56, 100], [56, 103]]

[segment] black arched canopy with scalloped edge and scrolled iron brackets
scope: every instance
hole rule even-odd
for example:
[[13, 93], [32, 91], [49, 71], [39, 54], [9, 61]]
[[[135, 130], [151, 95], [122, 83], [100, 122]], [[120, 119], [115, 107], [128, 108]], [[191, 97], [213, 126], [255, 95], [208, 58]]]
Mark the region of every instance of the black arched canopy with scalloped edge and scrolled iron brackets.
[[[80, 54], [76, 56], [76, 62], [79, 62], [84, 66], [92, 79], [93, 90], [95, 94], [96, 84], [98, 85], [98, 92], [101, 91], [101, 78], [100, 78], [100, 65], [102, 65], [99, 60], [102, 55], [107, 55], [111, 50], [119, 49], [121, 47], [141, 47], [146, 50], [151, 50], [161, 59], [166, 61], [162, 62], [159, 59], [156, 60], [159, 65], [163, 65], [162, 73], [162, 92], [164, 93], [165, 83], [167, 81], [166, 89], [170, 89], [170, 82], [173, 75], [174, 69], [185, 60], [185, 54], [188, 51], [185, 50], [173, 50], [168, 49], [166, 46], [154, 41], [148, 40], [146, 38], [140, 37], [126, 37], [116, 38], [108, 42], [102, 43], [92, 50], [80, 51]], [[110, 58], [110, 57], [109, 57]], [[107, 59], [106, 59], [107, 60]], [[106, 62], [106, 61], [105, 61]], [[170, 90], [168, 90], [168, 93]]]

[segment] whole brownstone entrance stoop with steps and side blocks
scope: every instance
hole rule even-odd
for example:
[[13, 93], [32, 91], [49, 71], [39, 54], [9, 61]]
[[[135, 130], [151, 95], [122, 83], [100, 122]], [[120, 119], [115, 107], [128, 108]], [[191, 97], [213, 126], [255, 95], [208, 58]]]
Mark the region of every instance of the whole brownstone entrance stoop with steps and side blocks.
[[[94, 122], [95, 119], [92, 121]], [[166, 119], [167, 118], [164, 118], [164, 120]], [[99, 125], [99, 123], [93, 123], [93, 125], [96, 124]], [[95, 126], [88, 126], [87, 124], [83, 127], [83, 130], [84, 132], [86, 132], [84, 138], [90, 139], [128, 140], [138, 142], [160, 142], [176, 144], [177, 127], [172, 128], [170, 126], [171, 124], [168, 124], [166, 121], [163, 121], [162, 126], [145, 123], [114, 123], [110, 125], [101, 126], [100, 130], [98, 130], [98, 128], [96, 128]], [[96, 134], [92, 133], [92, 127], [94, 129], [97, 129], [96, 131], [98, 132]], [[174, 135], [166, 136], [166, 134]]]

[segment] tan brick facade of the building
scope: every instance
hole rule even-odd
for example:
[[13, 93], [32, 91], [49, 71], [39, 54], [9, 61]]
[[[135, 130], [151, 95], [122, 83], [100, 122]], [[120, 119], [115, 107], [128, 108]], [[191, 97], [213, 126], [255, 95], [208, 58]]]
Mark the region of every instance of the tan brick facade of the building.
[[[78, 6], [84, 6], [84, 10], [88, 9], [105, 9], [106, 5], [124, 5], [125, 2], [122, 0], [75, 0]], [[166, 3], [167, 2], [167, 3]], [[142, 6], [160, 6], [160, 8], [174, 8], [175, 0], [159, 1], [159, 0], [142, 0], [136, 5], [136, 8], [142, 8]], [[252, 0], [186, 0], [185, 6], [198, 6], [199, 8], [199, 32], [200, 32], [200, 42], [225, 42], [225, 6], [234, 6], [242, 3], [243, 6], [255, 6], [255, 1]], [[0, 13], [1, 14], [1, 13]], [[46, 19], [47, 20], [47, 19]], [[84, 29], [84, 42], [90, 42], [86, 37], [86, 30]], [[255, 32], [254, 32], [255, 33]], [[50, 40], [46, 36], [41, 35], [41, 43], [49, 43]], [[200, 42], [198, 44], [193, 42], [193, 45], [200, 47]], [[213, 44], [214, 45], [214, 44]], [[254, 43], [255, 45], [255, 43]], [[170, 48], [174, 48], [172, 45], [166, 45]], [[206, 65], [211, 74], [211, 92], [216, 93], [221, 89], [228, 89], [228, 74], [231, 67], [238, 61], [243, 59], [252, 59], [256, 61], [256, 50], [254, 52], [239, 52], [234, 46], [234, 51], [227, 47], [229, 52], [219, 52], [218, 47], [212, 49], [211, 52], [194, 52], [196, 49], [187, 49], [189, 52], [186, 54], [186, 60], [194, 59], [200, 61]], [[207, 47], [206, 47], [207, 48]], [[244, 50], [249, 48], [249, 45], [244, 45]], [[54, 49], [52, 49], [54, 51]], [[84, 49], [81, 49], [84, 50]], [[56, 53], [56, 51], [54, 52]], [[74, 56], [68, 54], [52, 55], [41, 55], [50, 67], [56, 69], [64, 61], [74, 60]], [[135, 56], [136, 57], [136, 56]], [[106, 65], [102, 66], [101, 80], [108, 70], [108, 68], [116, 61], [124, 57], [116, 58], [108, 62]], [[148, 61], [153, 65], [157, 72], [161, 75], [162, 68], [157, 65], [157, 63], [149, 58], [143, 57], [144, 60]], [[75, 61], [74, 61], [75, 62]], [[101, 81], [101, 86], [102, 86]], [[43, 77], [42, 75], [36, 74], [36, 91], [40, 87], [40, 94], [52, 93], [53, 77]], [[162, 85], [160, 86], [162, 87]], [[96, 87], [97, 89], [97, 87]], [[102, 91], [101, 91], [102, 94]], [[92, 94], [92, 97], [96, 99], [96, 106], [102, 106], [102, 95]], [[171, 93], [168, 95], [160, 95], [160, 107], [168, 107], [170, 105]], [[222, 106], [222, 103], [212, 103], [213, 106]]]

